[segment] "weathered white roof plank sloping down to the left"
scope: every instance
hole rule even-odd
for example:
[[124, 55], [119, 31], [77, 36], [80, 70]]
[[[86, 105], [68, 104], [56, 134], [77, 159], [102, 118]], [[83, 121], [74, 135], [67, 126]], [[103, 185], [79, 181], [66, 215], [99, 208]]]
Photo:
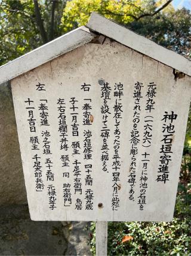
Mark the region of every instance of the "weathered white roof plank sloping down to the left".
[[93, 40], [95, 35], [90, 33], [84, 26], [75, 29], [57, 39], [32, 50], [26, 55], [20, 56], [14, 61], [8, 62], [0, 67], [0, 85], [14, 77], [20, 76], [63, 53], [70, 52], [79, 46]]

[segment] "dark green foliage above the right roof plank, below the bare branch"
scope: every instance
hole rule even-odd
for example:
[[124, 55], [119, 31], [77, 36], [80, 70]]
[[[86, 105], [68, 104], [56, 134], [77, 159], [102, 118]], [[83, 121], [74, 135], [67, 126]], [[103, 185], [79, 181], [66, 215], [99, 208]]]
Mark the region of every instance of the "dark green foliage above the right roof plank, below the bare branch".
[[155, 18], [145, 17], [130, 23], [128, 28], [168, 49], [189, 57], [191, 48], [190, 26], [190, 11], [182, 8], [177, 11], [171, 10], [168, 13], [160, 13]]

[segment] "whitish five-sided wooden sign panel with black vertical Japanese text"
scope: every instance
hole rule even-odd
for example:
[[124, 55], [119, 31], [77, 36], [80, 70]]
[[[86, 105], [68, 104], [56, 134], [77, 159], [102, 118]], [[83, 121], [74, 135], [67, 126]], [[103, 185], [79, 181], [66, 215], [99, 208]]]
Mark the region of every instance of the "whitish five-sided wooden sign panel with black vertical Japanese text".
[[35, 221], [170, 221], [190, 77], [88, 43], [11, 83]]

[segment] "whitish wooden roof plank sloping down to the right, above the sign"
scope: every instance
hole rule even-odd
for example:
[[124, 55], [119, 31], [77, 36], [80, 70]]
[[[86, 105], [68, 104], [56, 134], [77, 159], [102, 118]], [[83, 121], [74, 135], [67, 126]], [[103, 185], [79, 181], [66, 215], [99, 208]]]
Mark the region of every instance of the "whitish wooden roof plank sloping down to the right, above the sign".
[[191, 62], [188, 59], [97, 13], [91, 14], [87, 27], [191, 76]]

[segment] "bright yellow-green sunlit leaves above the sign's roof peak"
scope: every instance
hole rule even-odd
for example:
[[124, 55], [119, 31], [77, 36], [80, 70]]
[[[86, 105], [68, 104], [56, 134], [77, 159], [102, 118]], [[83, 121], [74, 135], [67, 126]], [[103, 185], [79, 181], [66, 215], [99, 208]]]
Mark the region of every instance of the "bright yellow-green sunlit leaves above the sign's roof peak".
[[107, 19], [126, 25], [144, 11], [152, 11], [153, 4], [153, 0], [72, 0], [66, 4], [61, 24], [64, 31], [86, 25], [92, 11], [96, 11]]

